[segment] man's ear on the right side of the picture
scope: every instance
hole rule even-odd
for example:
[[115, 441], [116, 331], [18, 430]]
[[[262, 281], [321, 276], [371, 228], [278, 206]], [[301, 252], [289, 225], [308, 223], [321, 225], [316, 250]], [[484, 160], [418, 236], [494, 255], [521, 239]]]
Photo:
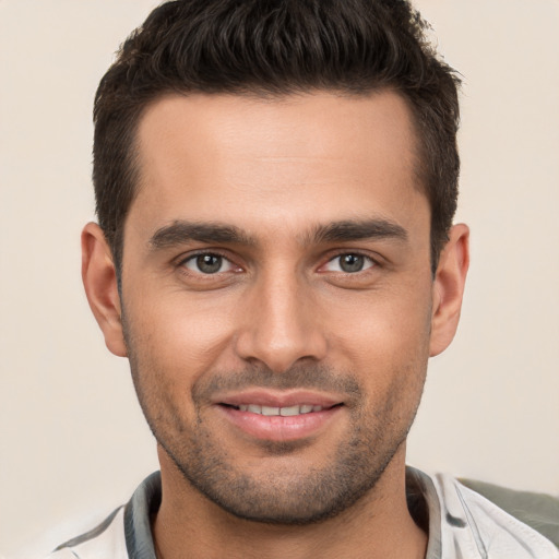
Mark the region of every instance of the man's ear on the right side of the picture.
[[454, 225], [439, 258], [433, 282], [431, 341], [429, 355], [442, 353], [452, 342], [460, 320], [462, 295], [469, 265], [469, 229]]

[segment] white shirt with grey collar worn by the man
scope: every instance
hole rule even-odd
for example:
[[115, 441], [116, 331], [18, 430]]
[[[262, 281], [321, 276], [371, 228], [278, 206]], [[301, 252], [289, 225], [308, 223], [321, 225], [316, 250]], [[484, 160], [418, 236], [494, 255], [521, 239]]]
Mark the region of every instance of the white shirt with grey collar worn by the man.
[[[551, 542], [451, 476], [408, 467], [406, 486], [428, 515], [426, 559], [559, 559]], [[48, 559], [155, 559], [150, 518], [159, 503], [157, 472], [128, 504]]]

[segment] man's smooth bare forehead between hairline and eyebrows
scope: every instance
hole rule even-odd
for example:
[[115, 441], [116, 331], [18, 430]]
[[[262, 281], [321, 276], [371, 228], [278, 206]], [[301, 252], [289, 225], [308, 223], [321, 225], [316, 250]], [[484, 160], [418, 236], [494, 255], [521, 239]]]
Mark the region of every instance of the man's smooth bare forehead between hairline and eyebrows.
[[274, 227], [371, 212], [397, 222], [391, 212], [426, 203], [415, 144], [407, 105], [392, 92], [168, 96], [140, 121], [131, 214], [154, 226], [188, 218]]

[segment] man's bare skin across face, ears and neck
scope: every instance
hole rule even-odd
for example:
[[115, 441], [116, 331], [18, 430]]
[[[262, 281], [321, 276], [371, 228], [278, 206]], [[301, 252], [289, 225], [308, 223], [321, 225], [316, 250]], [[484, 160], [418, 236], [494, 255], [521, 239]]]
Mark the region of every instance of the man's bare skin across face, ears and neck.
[[[139, 151], [122, 300], [95, 224], [83, 275], [158, 441], [162, 555], [424, 557], [405, 438], [456, 329], [468, 231], [433, 278], [405, 103], [166, 97]], [[311, 400], [335, 404], [311, 427], [254, 431], [231, 407]]]

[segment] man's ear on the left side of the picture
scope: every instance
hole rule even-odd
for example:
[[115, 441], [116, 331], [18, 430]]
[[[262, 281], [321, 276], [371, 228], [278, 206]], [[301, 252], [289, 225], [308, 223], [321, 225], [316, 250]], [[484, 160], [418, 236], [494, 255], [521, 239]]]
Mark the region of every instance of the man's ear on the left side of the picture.
[[88, 223], [82, 231], [82, 280], [105, 344], [115, 355], [126, 357], [117, 272], [105, 235], [95, 223]]

